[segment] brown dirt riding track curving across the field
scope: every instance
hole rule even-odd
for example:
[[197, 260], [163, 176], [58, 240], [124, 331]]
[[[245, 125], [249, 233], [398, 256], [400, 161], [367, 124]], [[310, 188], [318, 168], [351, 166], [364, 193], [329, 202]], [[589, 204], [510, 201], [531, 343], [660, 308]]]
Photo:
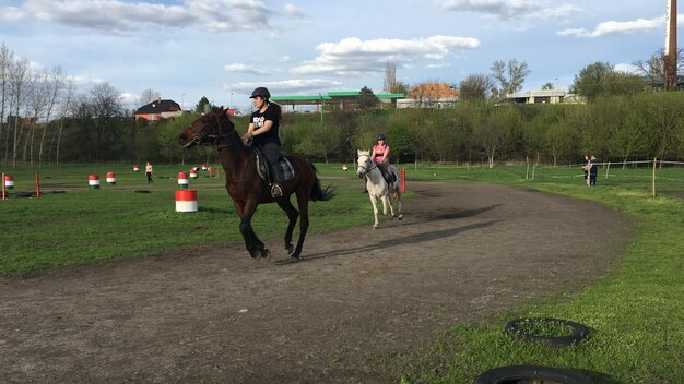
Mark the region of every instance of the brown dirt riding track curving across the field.
[[268, 243], [270, 262], [226, 242], [0, 279], [0, 381], [397, 382], [387, 367], [401, 353], [389, 352], [577, 289], [628, 238], [628, 223], [592, 202], [503, 185], [410, 188], [420, 196], [404, 220], [373, 231], [368, 203], [367, 226], [310, 236], [299, 263], [280, 241]]

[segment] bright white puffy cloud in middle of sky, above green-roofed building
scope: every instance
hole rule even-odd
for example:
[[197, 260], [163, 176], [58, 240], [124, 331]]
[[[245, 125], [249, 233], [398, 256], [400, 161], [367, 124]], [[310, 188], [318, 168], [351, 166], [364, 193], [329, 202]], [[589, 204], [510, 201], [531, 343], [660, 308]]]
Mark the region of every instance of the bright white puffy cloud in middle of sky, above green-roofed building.
[[480, 41], [472, 37], [431, 36], [420, 39], [362, 40], [349, 37], [339, 43], [323, 43], [316, 47], [320, 55], [293, 73], [330, 73], [350, 75], [381, 72], [387, 62], [408, 64], [417, 60], [443, 60], [455, 49], [474, 49]]

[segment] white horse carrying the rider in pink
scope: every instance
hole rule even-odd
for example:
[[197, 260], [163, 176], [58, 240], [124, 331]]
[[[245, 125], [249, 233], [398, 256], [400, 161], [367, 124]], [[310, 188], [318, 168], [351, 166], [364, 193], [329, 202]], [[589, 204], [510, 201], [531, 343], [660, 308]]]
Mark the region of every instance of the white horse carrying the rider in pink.
[[[403, 215], [401, 214], [401, 179], [399, 178], [399, 170], [397, 167], [389, 166], [390, 171], [394, 175], [394, 179], [397, 180], [390, 190], [377, 164], [370, 159], [370, 152], [358, 151], [356, 164], [358, 165], [356, 175], [359, 178], [366, 178], [366, 189], [368, 190], [368, 197], [370, 197], [370, 204], [373, 204], [373, 215], [375, 217], [373, 229], [377, 228], [379, 224], [378, 199], [382, 201], [382, 214], [385, 216], [389, 216], [390, 220], [394, 219], [394, 217], [398, 217], [401, 220], [403, 218]], [[392, 207], [390, 194], [393, 194], [397, 200], [397, 213], [394, 213], [394, 208]], [[390, 215], [387, 214], [388, 207]]]

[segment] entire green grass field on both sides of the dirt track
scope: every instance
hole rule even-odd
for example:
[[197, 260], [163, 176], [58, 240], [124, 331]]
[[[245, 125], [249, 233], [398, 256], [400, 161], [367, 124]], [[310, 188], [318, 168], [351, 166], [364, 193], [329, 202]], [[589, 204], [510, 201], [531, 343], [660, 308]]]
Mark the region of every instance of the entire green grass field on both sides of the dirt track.
[[[179, 166], [157, 166], [153, 185], [129, 166], [68, 166], [43, 170], [47, 193], [36, 199], [0, 202], [2, 256], [0, 274], [27, 272], [120, 257], [158, 254], [193, 244], [238, 239], [237, 219], [222, 179], [191, 181], [199, 192], [200, 211], [174, 211]], [[186, 167], [188, 168], [188, 167]], [[311, 231], [368, 224], [367, 196], [362, 182], [339, 164], [318, 165], [323, 184], [332, 182], [335, 204], [312, 205]], [[528, 185], [550, 193], [605, 204], [630, 219], [634, 238], [624, 257], [597, 284], [569, 299], [562, 292], [500, 313], [483, 324], [456, 325], [432, 348], [404, 357], [405, 383], [470, 383], [490, 368], [543, 364], [571, 368], [602, 383], [684, 383], [684, 203], [667, 194], [651, 197], [651, 173], [646, 167], [610, 169], [599, 187], [583, 184], [577, 167], [420, 166], [408, 168], [414, 180], [482, 181]], [[7, 170], [5, 170], [7, 171]], [[104, 181], [117, 173], [117, 185]], [[604, 170], [603, 170], [604, 171]], [[89, 173], [98, 172], [103, 187], [87, 189]], [[15, 190], [33, 188], [33, 170], [13, 171]], [[684, 168], [657, 171], [657, 190], [684, 190]], [[48, 179], [47, 177], [50, 177]], [[135, 193], [148, 189], [150, 193]], [[256, 230], [280, 238], [285, 218], [275, 206], [262, 206]], [[610, 228], [598, 228], [606, 233]], [[563, 298], [563, 299], [562, 299]], [[526, 345], [503, 331], [512, 319], [550, 316], [583, 323], [593, 329], [586, 343], [566, 349]]]

